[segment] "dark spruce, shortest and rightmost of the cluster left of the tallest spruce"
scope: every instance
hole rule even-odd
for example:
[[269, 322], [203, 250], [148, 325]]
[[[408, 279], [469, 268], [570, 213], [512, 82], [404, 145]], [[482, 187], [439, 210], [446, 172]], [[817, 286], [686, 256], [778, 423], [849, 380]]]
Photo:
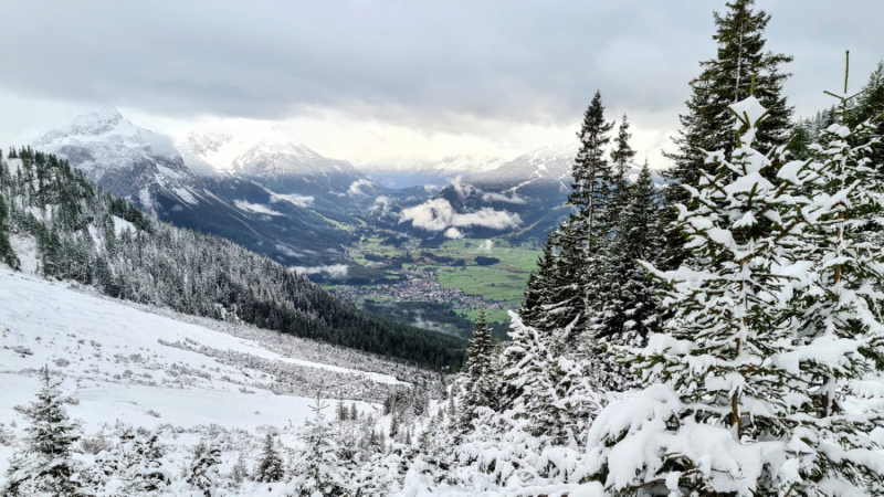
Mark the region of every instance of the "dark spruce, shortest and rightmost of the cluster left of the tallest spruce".
[[603, 258], [601, 284], [587, 348], [589, 367], [600, 380], [600, 391], [622, 391], [631, 382], [629, 372], [606, 350], [609, 345], [642, 346], [660, 330], [661, 298], [656, 284], [638, 261], [655, 263], [662, 250], [660, 202], [645, 161], [630, 188], [620, 223]]

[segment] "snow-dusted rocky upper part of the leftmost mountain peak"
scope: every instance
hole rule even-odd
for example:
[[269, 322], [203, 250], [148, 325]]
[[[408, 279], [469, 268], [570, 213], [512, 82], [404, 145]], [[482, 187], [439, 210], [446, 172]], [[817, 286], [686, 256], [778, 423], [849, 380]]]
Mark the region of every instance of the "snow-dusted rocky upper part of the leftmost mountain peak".
[[193, 201], [194, 177], [171, 140], [133, 125], [113, 107], [76, 114], [31, 145], [67, 159], [105, 190], [145, 209], [155, 209], [159, 192]]

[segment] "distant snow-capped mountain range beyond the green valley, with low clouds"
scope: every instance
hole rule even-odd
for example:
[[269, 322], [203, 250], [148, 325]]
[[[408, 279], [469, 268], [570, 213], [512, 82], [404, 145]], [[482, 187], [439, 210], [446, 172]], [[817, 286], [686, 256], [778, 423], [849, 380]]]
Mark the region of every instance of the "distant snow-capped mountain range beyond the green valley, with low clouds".
[[40, 135], [102, 188], [160, 220], [230, 239], [292, 267], [346, 271], [356, 236], [399, 232], [428, 243], [508, 236], [540, 242], [565, 205], [577, 144], [512, 160], [482, 155], [324, 157], [275, 125], [222, 123], [172, 141], [114, 108]]

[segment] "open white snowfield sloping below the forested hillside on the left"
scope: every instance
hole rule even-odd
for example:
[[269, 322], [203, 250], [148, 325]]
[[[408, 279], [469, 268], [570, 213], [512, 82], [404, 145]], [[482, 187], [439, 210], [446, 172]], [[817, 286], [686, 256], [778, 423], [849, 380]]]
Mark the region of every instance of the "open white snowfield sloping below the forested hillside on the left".
[[[28, 243], [13, 237], [18, 247]], [[348, 361], [370, 371], [347, 367]], [[410, 370], [325, 343], [106, 298], [0, 266], [0, 426], [14, 422], [21, 431], [28, 425], [15, 408], [34, 400], [43, 366], [63, 374], [69, 412], [82, 421], [85, 434], [119, 421], [162, 427], [176, 440], [180, 433], [197, 433], [192, 444], [213, 425], [252, 434], [293, 433], [312, 416], [308, 405], [317, 390], [358, 400], [360, 411], [378, 415], [378, 402], [408, 384], [382, 371], [404, 377]], [[11, 451], [0, 444], [0, 475]]]

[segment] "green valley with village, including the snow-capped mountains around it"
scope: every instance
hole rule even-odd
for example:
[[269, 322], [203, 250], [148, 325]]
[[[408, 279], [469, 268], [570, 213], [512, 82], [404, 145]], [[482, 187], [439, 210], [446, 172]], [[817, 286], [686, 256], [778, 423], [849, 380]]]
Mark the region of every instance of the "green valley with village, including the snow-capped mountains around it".
[[518, 306], [540, 243], [570, 212], [578, 150], [354, 166], [273, 123], [219, 121], [171, 139], [113, 107], [78, 113], [31, 147], [161, 221], [238, 243], [372, 313], [454, 335], [471, 331], [478, 308], [504, 321]]

